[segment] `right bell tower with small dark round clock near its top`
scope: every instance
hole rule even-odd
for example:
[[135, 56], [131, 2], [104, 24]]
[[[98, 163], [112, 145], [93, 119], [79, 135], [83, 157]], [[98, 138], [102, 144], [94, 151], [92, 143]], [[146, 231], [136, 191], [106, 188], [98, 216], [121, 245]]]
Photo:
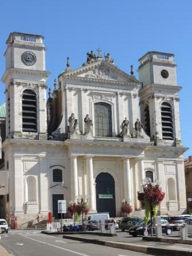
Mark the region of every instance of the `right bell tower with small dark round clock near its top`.
[[182, 146], [174, 55], [150, 51], [139, 59], [141, 119], [155, 145]]

